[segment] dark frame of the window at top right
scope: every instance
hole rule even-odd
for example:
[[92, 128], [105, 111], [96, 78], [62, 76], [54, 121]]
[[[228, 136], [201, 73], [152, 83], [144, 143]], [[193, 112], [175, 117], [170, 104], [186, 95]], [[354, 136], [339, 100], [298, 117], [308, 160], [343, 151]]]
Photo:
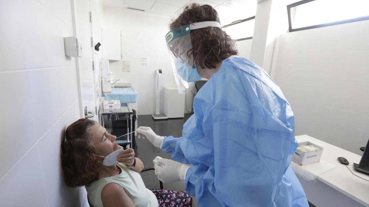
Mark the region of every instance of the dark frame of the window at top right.
[[311, 1], [315, 1], [315, 0], [302, 0], [302, 1], [297, 1], [297, 2], [295, 2], [293, 4], [287, 5], [288, 29], [289, 29], [289, 32], [301, 31], [301, 30], [305, 30], [305, 29], [319, 28], [319, 27], [327, 27], [327, 26], [332, 26], [332, 25], [337, 25], [337, 24], [345, 24], [345, 23], [349, 23], [349, 22], [357, 22], [357, 21], [369, 20], [369, 15], [368, 15], [368, 16], [357, 17], [357, 18], [352, 18], [352, 19], [348, 19], [348, 20], [340, 20], [340, 21], [335, 21], [335, 22], [328, 22], [328, 23], [324, 23], [324, 24], [316, 24], [316, 25], [311, 25], [311, 26], [307, 26], [307, 27], [300, 27], [300, 28], [292, 29], [291, 8], [292, 7], [299, 6], [301, 4], [309, 3]]

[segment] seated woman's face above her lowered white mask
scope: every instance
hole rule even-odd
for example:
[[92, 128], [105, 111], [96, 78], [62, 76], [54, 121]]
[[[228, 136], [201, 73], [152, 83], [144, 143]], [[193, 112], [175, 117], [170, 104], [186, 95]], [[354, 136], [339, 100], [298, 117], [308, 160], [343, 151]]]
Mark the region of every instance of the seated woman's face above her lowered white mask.
[[91, 134], [95, 147], [99, 150], [101, 156], [106, 157], [111, 152], [120, 148], [115, 142], [117, 137], [109, 134], [100, 124], [95, 124], [91, 127]]

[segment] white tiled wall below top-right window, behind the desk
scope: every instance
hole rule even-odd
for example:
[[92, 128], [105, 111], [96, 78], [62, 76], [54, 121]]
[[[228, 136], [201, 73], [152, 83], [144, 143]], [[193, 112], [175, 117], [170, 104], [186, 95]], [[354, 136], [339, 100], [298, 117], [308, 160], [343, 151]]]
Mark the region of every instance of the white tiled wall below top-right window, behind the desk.
[[369, 139], [369, 21], [281, 37], [275, 81], [308, 134], [357, 154]]

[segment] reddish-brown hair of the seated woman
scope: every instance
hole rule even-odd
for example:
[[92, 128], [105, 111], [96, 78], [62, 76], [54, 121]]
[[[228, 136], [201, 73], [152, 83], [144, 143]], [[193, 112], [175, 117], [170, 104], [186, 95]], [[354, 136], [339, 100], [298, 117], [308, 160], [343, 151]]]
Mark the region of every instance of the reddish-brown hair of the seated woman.
[[62, 143], [62, 169], [65, 184], [69, 187], [88, 185], [97, 180], [99, 152], [90, 137], [90, 129], [97, 124], [89, 119], [79, 119], [65, 130], [65, 142]]

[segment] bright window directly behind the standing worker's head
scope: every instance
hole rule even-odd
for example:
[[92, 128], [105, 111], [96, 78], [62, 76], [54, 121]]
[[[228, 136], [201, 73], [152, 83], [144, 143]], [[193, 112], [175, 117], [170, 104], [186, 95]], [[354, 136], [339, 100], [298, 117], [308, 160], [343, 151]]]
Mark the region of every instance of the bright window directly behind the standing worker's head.
[[251, 39], [254, 35], [255, 16], [224, 25], [222, 29], [237, 41]]

